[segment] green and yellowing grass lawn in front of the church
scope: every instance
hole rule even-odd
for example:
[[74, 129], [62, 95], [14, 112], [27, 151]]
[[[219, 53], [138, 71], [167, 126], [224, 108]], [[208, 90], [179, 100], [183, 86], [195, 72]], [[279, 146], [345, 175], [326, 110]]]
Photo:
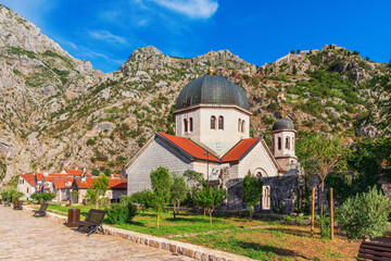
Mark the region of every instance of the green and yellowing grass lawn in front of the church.
[[[86, 216], [89, 206], [80, 209]], [[49, 211], [67, 214], [70, 207], [51, 204]], [[84, 219], [84, 217], [83, 217]], [[104, 221], [108, 224], [108, 220]], [[130, 224], [112, 225], [143, 234], [166, 237], [203, 247], [245, 256], [257, 260], [356, 260], [360, 241], [348, 241], [339, 234], [332, 241], [321, 239], [316, 229], [310, 236], [310, 226], [281, 225], [277, 222], [245, 219], [213, 217], [181, 212], [174, 220], [172, 212], [163, 213], [156, 229], [156, 215], [152, 211], [139, 212]]]

